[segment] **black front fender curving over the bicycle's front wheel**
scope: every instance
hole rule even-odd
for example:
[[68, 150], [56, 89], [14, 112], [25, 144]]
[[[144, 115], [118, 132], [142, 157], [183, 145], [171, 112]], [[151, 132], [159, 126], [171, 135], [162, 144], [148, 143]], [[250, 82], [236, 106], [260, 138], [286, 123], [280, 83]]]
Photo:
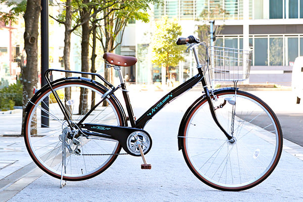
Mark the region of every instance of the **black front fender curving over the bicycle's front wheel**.
[[[236, 90], [238, 90], [238, 89], [239, 88], [236, 88]], [[235, 88], [233, 88], [233, 87], [220, 88], [220, 89], [214, 90], [213, 92], [216, 95], [216, 94], [224, 92], [224, 91], [235, 91]], [[178, 149], [179, 150], [182, 149], [182, 136], [185, 135], [184, 130], [185, 130], [186, 122], [188, 120], [189, 115], [192, 113], [192, 111], [196, 108], [197, 105], [199, 105], [201, 102], [205, 102], [205, 100], [206, 100], [206, 94], [203, 94], [202, 96], [197, 98], [184, 113], [180, 126], [179, 126], [179, 131], [178, 131]]]

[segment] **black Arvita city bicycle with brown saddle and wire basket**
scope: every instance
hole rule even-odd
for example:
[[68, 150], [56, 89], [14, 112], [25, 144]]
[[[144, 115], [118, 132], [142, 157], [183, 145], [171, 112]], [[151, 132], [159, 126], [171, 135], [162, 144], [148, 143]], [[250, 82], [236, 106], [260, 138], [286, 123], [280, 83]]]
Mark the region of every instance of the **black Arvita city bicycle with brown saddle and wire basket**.
[[[245, 190], [264, 181], [278, 164], [283, 138], [270, 107], [236, 85], [248, 78], [251, 51], [209, 47], [193, 36], [179, 38], [177, 44], [189, 45], [198, 73], [138, 119], [121, 75], [121, 67], [134, 65], [136, 58], [104, 54], [107, 67], [118, 72], [121, 84], [117, 87], [96, 73], [47, 70], [47, 84], [30, 99], [24, 122], [26, 147], [37, 166], [61, 179], [61, 187], [66, 181], [85, 180], [104, 172], [122, 155], [121, 148], [123, 155], [142, 157], [141, 168], [150, 169], [144, 155], [152, 140], [143, 130], [145, 124], [201, 82], [204, 92], [185, 112], [177, 136], [187, 166], [198, 179], [220, 190]], [[198, 59], [202, 53], [198, 47], [205, 53], [203, 63]], [[80, 76], [51, 81], [49, 75], [55, 71], [91, 75], [104, 84]], [[234, 86], [209, 89], [206, 74], [213, 80], [220, 75], [218, 80], [233, 81]], [[114, 94], [118, 89], [122, 90], [128, 116]], [[48, 122], [44, 123], [44, 118]]]

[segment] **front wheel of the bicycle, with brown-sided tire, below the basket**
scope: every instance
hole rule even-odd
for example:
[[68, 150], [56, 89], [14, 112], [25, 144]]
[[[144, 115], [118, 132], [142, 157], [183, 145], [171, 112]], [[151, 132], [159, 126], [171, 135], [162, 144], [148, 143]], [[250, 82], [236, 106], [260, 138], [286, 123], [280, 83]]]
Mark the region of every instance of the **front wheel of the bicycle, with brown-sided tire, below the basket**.
[[207, 99], [184, 120], [181, 145], [193, 174], [206, 184], [229, 191], [258, 185], [275, 169], [282, 152], [282, 130], [273, 111], [260, 98], [243, 91], [215, 92], [216, 114], [228, 140], [214, 122]]

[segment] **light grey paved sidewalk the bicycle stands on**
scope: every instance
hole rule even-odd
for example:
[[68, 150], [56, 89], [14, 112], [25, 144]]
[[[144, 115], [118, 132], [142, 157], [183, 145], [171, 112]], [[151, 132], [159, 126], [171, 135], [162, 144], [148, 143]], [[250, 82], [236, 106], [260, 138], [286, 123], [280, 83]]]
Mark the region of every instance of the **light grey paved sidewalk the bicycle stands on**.
[[[278, 100], [275, 93], [253, 93], [264, 96], [274, 111], [301, 110], [301, 106], [282, 109], [285, 97]], [[131, 92], [135, 114], [141, 115], [164, 94]], [[140, 158], [120, 156], [99, 176], [67, 182], [63, 189], [60, 180], [35, 169], [23, 137], [16, 136], [21, 131], [21, 112], [0, 114], [0, 201], [303, 201], [303, 147], [285, 139], [275, 171], [249, 190], [218, 191], [191, 173], [178, 151], [176, 136], [184, 112], [199, 95], [196, 91], [186, 93], [146, 125], [146, 131], [153, 137], [153, 148], [146, 155], [151, 170], [140, 169]]]

